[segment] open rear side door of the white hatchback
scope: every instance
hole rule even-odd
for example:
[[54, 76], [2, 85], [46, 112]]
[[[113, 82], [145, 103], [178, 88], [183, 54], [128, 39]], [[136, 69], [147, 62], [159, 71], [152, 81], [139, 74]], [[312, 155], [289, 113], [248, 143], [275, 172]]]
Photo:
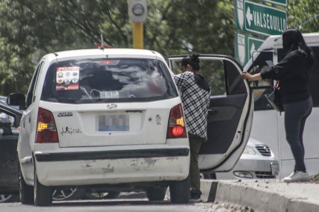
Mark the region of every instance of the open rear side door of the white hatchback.
[[[168, 66], [180, 73], [184, 56], [169, 56]], [[211, 89], [207, 118], [207, 142], [199, 150], [201, 172], [232, 169], [241, 156], [250, 136], [253, 101], [249, 84], [241, 79], [242, 68], [232, 57], [200, 55], [199, 74]], [[187, 125], [187, 123], [186, 123]]]

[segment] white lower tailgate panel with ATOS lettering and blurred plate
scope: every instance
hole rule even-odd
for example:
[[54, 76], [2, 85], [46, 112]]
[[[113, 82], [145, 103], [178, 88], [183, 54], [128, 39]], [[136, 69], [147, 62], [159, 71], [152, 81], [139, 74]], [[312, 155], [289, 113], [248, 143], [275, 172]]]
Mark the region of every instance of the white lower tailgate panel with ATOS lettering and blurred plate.
[[163, 144], [171, 109], [164, 102], [116, 103], [116, 109], [108, 109], [110, 104], [79, 104], [74, 111], [53, 112], [59, 145]]

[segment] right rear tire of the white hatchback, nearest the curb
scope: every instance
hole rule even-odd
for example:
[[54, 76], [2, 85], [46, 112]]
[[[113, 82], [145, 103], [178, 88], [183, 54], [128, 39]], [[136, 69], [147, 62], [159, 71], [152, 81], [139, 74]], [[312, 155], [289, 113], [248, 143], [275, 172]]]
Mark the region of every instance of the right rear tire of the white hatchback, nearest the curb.
[[169, 184], [170, 202], [173, 204], [187, 204], [190, 198], [189, 175], [181, 181], [172, 181]]

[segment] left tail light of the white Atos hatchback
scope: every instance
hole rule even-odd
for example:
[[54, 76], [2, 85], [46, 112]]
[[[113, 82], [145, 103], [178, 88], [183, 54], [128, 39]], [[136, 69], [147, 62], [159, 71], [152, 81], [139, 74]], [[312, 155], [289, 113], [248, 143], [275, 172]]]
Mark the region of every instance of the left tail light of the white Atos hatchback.
[[53, 114], [39, 107], [37, 131], [35, 137], [36, 143], [56, 143], [59, 142], [58, 133], [55, 127]]

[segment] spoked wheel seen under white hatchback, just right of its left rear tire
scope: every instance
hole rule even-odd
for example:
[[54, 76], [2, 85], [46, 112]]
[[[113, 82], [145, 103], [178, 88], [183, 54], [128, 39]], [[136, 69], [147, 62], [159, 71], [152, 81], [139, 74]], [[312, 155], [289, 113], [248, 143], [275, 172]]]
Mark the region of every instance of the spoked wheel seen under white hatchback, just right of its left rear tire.
[[86, 189], [72, 187], [66, 189], [56, 189], [53, 191], [52, 198], [55, 201], [61, 200], [78, 200], [86, 193]]

